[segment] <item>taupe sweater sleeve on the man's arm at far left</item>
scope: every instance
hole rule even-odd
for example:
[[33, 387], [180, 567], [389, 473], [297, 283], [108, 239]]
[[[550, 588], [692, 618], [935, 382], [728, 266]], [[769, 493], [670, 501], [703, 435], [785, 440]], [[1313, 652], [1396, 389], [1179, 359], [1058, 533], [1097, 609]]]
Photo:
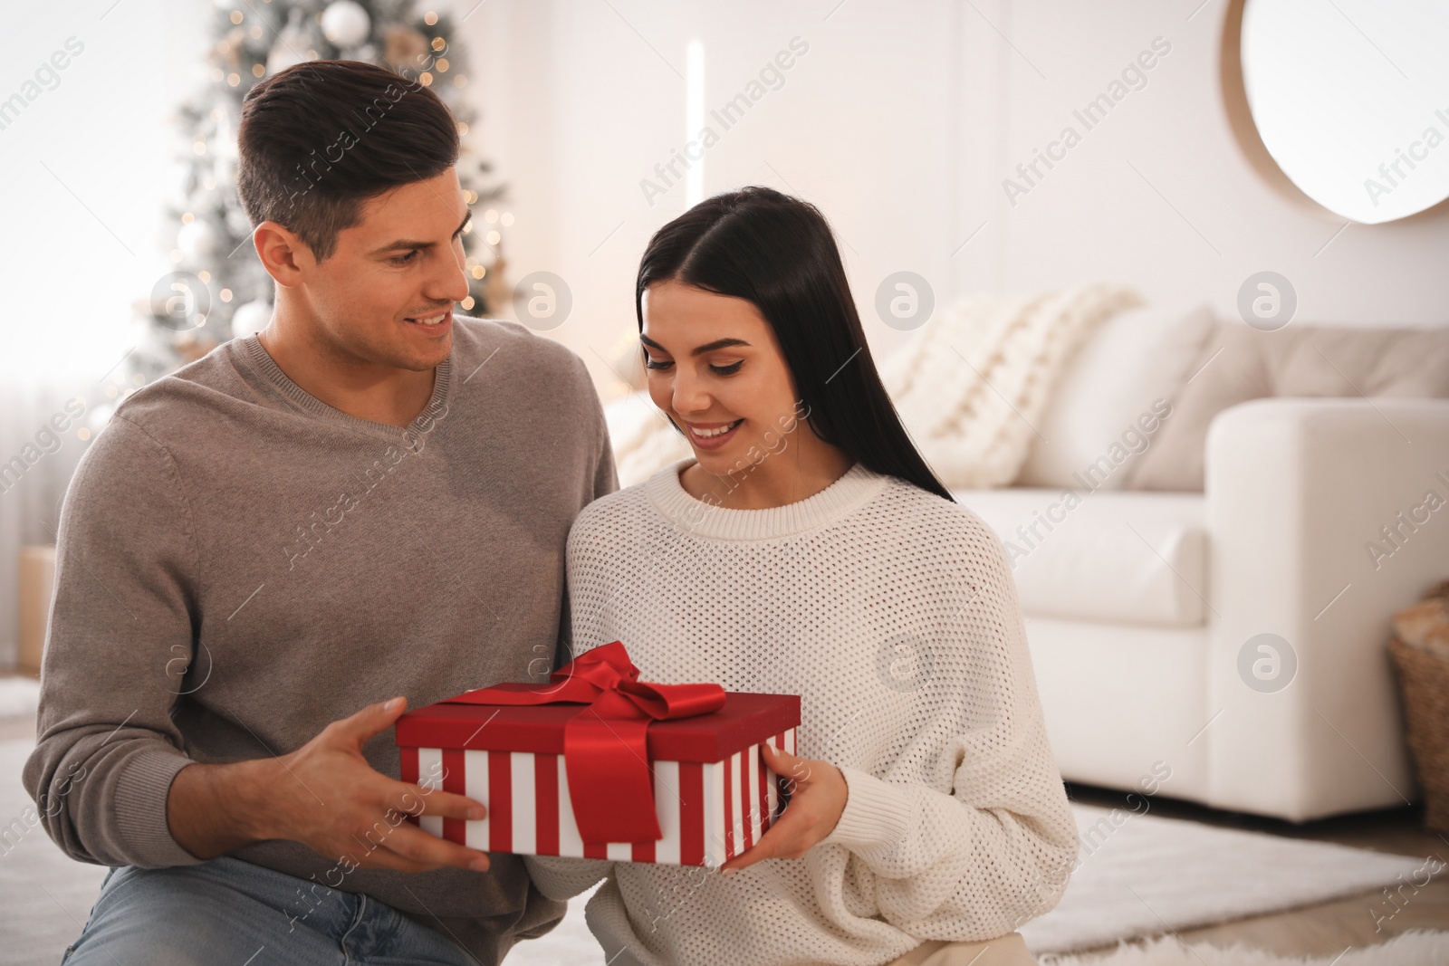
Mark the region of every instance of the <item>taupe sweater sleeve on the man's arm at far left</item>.
[[170, 453], [122, 414], [65, 495], [41, 673], [39, 740], [22, 779], [75, 860], [199, 862], [167, 795], [190, 765], [171, 708], [196, 637], [194, 529]]

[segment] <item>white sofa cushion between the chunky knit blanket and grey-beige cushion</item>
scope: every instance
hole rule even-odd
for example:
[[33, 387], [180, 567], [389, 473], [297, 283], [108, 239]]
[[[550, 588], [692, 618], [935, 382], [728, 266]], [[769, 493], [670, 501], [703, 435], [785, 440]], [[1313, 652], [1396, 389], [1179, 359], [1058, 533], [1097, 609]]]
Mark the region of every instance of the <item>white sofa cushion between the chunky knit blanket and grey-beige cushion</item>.
[[1153, 403], [1172, 398], [1214, 324], [1207, 306], [1142, 306], [1101, 323], [1053, 388], [1016, 485], [1120, 490], [1152, 442], [1143, 426], [1161, 421]]

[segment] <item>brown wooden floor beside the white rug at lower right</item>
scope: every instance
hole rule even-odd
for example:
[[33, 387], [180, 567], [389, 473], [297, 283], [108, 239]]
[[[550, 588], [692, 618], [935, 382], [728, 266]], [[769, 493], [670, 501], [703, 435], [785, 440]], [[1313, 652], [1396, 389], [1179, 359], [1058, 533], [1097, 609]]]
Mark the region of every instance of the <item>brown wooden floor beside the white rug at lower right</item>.
[[[1132, 808], [1123, 792], [1075, 784], [1068, 784], [1066, 791], [1072, 801]], [[1152, 804], [1152, 814], [1164, 818], [1187, 818], [1224, 828], [1333, 841], [1404, 856], [1433, 856], [1449, 862], [1449, 833], [1426, 830], [1420, 823], [1419, 807], [1340, 815], [1295, 826], [1161, 797], [1153, 798]], [[1184, 930], [1178, 936], [1187, 943], [1208, 943], [1224, 949], [1240, 944], [1278, 956], [1336, 956], [1349, 947], [1385, 943], [1410, 930], [1449, 930], [1449, 873], [1417, 889], [1411, 883], [1401, 886], [1392, 902], [1382, 892], [1375, 892], [1291, 912]]]

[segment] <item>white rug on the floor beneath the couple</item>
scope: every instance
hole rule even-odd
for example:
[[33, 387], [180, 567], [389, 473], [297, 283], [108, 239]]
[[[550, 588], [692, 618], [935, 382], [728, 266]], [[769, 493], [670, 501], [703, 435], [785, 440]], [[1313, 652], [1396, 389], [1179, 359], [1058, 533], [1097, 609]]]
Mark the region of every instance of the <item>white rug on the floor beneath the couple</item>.
[[[29, 824], [35, 805], [20, 785], [20, 768], [30, 747], [29, 740], [0, 742], [0, 910], [4, 914], [0, 959], [16, 966], [54, 966], [84, 925], [106, 869], [71, 862], [39, 824]], [[1022, 928], [1037, 956], [1372, 892], [1394, 882], [1400, 873], [1411, 876], [1423, 865], [1417, 857], [1156, 815], [1117, 812], [1124, 820], [1113, 824], [1107, 810], [1074, 805], [1074, 811], [1085, 839], [1077, 872], [1061, 904]], [[1103, 820], [1106, 824], [1100, 824]], [[587, 896], [574, 899], [568, 917], [549, 936], [514, 947], [509, 966], [601, 965], [603, 956], [584, 924], [585, 901]], [[1414, 959], [1419, 953], [1408, 952], [1392, 960], [1353, 959], [1355, 953], [1348, 953], [1336, 966], [1449, 963], [1449, 956], [1440, 954], [1445, 938], [1435, 941], [1439, 946], [1433, 949], [1440, 950], [1433, 953], [1437, 959]], [[1208, 959], [1193, 952], [1184, 953], [1188, 959], [1172, 959], [1177, 952], [1171, 946], [1123, 949], [1116, 953], [1123, 959], [1110, 963], [1268, 966], [1278, 962], [1248, 959], [1246, 954]], [[1142, 959], [1148, 954], [1156, 959]], [[1061, 960], [1059, 966], [1085, 966], [1085, 962]]]

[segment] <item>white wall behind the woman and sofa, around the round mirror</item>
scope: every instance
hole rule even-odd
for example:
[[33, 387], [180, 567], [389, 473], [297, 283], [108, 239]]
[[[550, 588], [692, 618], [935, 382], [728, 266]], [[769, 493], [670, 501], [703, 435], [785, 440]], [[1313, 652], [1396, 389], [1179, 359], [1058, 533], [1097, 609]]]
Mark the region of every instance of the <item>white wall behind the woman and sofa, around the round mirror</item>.
[[[682, 188], [646, 204], [639, 180], [682, 148], [685, 43], [706, 45], [716, 107], [800, 36], [785, 85], [707, 152], [704, 193], [755, 182], [819, 204], [878, 355], [904, 339], [871, 307], [897, 269], [940, 298], [1119, 280], [1223, 314], [1272, 269], [1303, 323], [1446, 324], [1449, 213], [1336, 236], [1342, 220], [1272, 188], [1219, 87], [1227, 3], [1198, 3], [488, 0], [462, 38], [485, 65], [472, 136], [513, 188], [509, 274], [568, 281], [574, 313], [552, 335], [619, 391], [601, 359], [632, 337], [643, 245], [684, 209]], [[1072, 110], [1155, 38], [1171, 51], [1146, 85], [1085, 130]], [[1065, 125], [1081, 143], [1010, 204], [1003, 178]]]

